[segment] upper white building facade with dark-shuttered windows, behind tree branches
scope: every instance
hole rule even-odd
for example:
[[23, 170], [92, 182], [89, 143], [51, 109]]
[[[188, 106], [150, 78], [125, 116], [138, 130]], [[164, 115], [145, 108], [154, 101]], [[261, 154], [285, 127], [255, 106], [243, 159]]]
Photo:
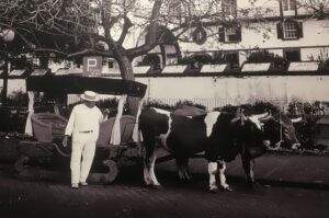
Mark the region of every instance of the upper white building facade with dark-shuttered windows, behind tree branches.
[[[162, 66], [177, 64], [177, 51], [183, 57], [196, 54], [215, 57], [220, 53], [232, 67], [241, 67], [250, 54], [258, 50], [268, 50], [288, 62], [328, 58], [327, 19], [316, 18], [314, 10], [294, 0], [258, 0], [256, 3], [225, 0], [222, 10], [224, 21], [227, 18], [229, 22], [205, 22], [202, 27], [192, 27], [185, 38], [178, 42], [180, 50], [173, 46], [166, 47], [166, 60], [159, 48], [151, 53], [161, 58]], [[326, 8], [325, 12], [329, 9]]]

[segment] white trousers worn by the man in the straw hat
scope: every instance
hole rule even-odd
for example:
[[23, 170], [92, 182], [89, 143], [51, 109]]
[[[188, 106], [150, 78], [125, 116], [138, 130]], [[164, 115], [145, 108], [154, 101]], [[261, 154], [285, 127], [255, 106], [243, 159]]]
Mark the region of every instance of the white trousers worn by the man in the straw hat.
[[92, 133], [78, 133], [73, 136], [71, 153], [71, 183], [86, 182], [95, 151]]

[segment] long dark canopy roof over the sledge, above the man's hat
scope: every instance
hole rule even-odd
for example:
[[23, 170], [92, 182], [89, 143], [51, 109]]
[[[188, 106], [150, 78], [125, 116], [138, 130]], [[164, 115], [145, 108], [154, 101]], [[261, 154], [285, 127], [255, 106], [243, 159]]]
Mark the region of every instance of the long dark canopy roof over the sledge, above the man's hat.
[[136, 81], [112, 78], [81, 77], [81, 76], [44, 76], [29, 77], [26, 90], [52, 93], [83, 93], [86, 90], [99, 94], [127, 94], [129, 96], [143, 97], [147, 85]]

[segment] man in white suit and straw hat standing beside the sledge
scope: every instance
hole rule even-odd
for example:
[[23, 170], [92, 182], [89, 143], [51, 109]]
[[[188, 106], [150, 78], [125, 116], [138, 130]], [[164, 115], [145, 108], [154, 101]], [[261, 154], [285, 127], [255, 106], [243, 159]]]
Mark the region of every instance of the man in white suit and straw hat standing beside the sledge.
[[[88, 185], [87, 177], [95, 152], [95, 141], [99, 137], [100, 123], [103, 115], [95, 102], [95, 92], [86, 91], [81, 94], [82, 104], [73, 107], [65, 130], [63, 146], [67, 146], [68, 137], [72, 136], [71, 153], [71, 187]], [[82, 158], [82, 160], [81, 160]]]

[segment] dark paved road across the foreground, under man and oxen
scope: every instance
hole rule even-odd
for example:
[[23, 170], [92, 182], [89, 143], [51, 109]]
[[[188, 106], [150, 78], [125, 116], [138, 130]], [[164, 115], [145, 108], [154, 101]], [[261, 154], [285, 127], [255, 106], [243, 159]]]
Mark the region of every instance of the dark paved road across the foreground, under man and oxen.
[[18, 180], [12, 165], [1, 164], [0, 217], [328, 217], [328, 191], [280, 186], [249, 191], [241, 181], [229, 179], [234, 192], [212, 194], [206, 192], [205, 173], [194, 174], [193, 182], [182, 186], [170, 165], [172, 162], [158, 167], [162, 190], [145, 187], [140, 169], [131, 169], [112, 185], [94, 184], [76, 191], [66, 180]]

